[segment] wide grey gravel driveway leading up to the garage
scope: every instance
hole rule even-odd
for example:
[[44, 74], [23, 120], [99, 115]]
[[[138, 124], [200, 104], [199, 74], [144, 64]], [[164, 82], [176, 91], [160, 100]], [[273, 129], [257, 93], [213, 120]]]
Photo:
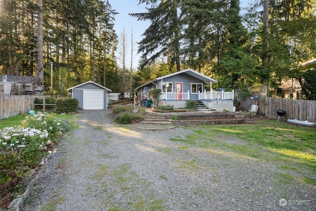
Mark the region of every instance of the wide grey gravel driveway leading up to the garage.
[[[184, 138], [190, 128], [119, 126], [104, 110], [80, 111], [78, 125], [50, 157], [22, 211], [316, 210], [315, 186], [289, 182], [273, 162], [203, 147], [203, 140], [169, 139]], [[225, 144], [247, 143], [214, 140]]]

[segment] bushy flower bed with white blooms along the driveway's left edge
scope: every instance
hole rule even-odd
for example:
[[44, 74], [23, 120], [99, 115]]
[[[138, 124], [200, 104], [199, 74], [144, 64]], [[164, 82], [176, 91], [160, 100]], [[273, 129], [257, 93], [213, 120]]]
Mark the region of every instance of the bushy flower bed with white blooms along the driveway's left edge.
[[41, 157], [51, 153], [53, 143], [68, 130], [66, 122], [41, 112], [27, 116], [21, 126], [0, 129], [0, 194], [14, 192], [28, 169], [38, 166]]

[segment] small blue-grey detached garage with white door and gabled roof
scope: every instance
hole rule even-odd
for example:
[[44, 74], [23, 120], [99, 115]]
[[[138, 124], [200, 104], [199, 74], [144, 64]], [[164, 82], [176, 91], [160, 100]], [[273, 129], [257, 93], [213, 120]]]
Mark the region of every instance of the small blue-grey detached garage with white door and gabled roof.
[[67, 89], [73, 98], [79, 100], [79, 108], [84, 110], [100, 110], [108, 108], [108, 92], [112, 90], [88, 81]]

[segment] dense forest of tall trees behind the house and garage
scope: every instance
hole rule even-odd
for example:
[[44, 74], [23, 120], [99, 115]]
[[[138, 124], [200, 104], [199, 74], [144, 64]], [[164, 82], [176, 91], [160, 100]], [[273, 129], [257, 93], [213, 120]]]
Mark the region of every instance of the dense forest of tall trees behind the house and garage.
[[227, 90], [295, 78], [316, 100], [315, 64], [301, 66], [316, 57], [316, 0], [257, 0], [243, 14], [239, 0], [139, 3], [146, 12], [131, 17], [151, 24], [133, 67], [133, 34], [114, 30], [108, 0], [0, 0], [0, 74], [38, 75], [46, 94], [64, 95], [89, 80], [123, 93], [192, 68]]

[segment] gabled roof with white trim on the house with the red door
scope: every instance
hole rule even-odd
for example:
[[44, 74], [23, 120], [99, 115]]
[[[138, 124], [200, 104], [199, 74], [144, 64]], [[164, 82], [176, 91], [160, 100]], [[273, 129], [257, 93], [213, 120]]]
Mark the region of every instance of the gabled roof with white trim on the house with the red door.
[[197, 78], [197, 79], [203, 81], [206, 84], [210, 84], [211, 82], [212, 83], [217, 83], [216, 80], [214, 80], [212, 78], [209, 78], [208, 76], [205, 76], [205, 75], [203, 75], [203, 74], [201, 74], [201, 73], [199, 73], [199, 72], [197, 72], [195, 70], [192, 70], [192, 69], [188, 68], [188, 69], [185, 69], [185, 70], [182, 70], [182, 71], [179, 71], [179, 72], [175, 72], [175, 73], [172, 73], [172, 74], [169, 74], [169, 75], [158, 77], [157, 79], [154, 79], [154, 80], [152, 80], [152, 81], [150, 81], [150, 82], [148, 82], [146, 84], [142, 84], [142, 85], [136, 87], [134, 90], [137, 90], [137, 89], [139, 89], [139, 88], [141, 88], [143, 86], [146, 86], [148, 84], [152, 84], [154, 82], [157, 82], [158, 80], [169, 78], [171, 76], [175, 76], [175, 75], [179, 75], [179, 74], [183, 74], [183, 73], [186, 73], [186, 74], [188, 74], [188, 75], [190, 75], [190, 76], [192, 76], [194, 78]]

